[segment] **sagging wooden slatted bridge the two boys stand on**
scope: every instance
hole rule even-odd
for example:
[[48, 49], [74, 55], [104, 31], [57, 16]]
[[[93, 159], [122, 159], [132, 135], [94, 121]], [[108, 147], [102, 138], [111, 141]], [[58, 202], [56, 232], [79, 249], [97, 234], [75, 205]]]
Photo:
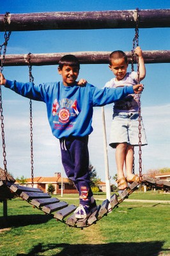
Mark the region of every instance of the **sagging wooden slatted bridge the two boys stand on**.
[[[170, 191], [169, 182], [162, 180], [147, 179], [141, 182], [147, 184], [151, 188], [165, 189]], [[114, 208], [118, 207], [125, 198], [134, 192], [139, 184], [133, 182], [128, 186], [125, 191], [121, 191], [120, 195], [113, 194], [111, 200], [104, 200], [101, 205], [97, 205], [91, 212], [90, 216], [84, 219], [75, 218], [73, 211], [77, 208], [75, 205], [68, 205], [64, 201], [60, 201], [58, 198], [51, 197], [48, 193], [44, 193], [41, 189], [28, 188], [10, 182], [3, 182], [0, 180], [0, 191], [7, 189], [11, 195], [20, 196], [23, 200], [26, 200], [29, 204], [34, 205], [37, 209], [40, 209], [45, 214], [49, 214], [52, 218], [65, 223], [70, 227], [84, 228], [89, 227], [97, 223], [104, 216], [107, 216]]]

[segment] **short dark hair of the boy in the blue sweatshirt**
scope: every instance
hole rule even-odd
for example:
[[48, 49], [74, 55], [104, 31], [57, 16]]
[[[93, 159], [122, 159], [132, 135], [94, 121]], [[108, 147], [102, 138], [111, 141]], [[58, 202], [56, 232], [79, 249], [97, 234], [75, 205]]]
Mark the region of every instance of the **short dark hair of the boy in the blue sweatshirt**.
[[80, 69], [79, 60], [72, 54], [67, 54], [59, 60], [59, 68], [62, 69], [64, 65]]

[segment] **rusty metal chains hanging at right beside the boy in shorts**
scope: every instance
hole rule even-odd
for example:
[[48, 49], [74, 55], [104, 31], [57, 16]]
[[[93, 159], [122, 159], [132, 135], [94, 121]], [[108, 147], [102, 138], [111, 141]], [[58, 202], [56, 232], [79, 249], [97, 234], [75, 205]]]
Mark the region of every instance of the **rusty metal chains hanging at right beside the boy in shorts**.
[[[139, 73], [139, 58], [135, 56], [134, 51], [135, 47], [139, 46], [139, 9], [136, 9], [137, 11], [137, 19], [136, 19], [136, 27], [135, 27], [135, 36], [133, 39], [133, 49], [132, 49], [132, 71], [134, 71], [134, 61], [136, 57], [136, 62], [137, 62], [137, 83], [140, 83], [140, 73]], [[139, 177], [140, 179], [142, 178], [142, 150], [141, 150], [141, 121], [142, 121], [142, 116], [141, 116], [141, 93], [138, 93], [138, 102], [139, 102]], [[134, 172], [134, 163], [133, 163], [133, 172]]]

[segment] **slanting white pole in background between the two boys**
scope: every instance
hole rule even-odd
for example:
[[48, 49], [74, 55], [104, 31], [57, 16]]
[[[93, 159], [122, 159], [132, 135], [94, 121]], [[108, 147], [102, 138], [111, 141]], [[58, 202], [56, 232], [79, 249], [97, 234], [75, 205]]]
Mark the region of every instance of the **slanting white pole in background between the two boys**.
[[102, 107], [102, 124], [103, 124], [103, 136], [104, 136], [106, 198], [110, 201], [111, 200], [111, 184], [110, 184], [110, 178], [109, 178], [109, 161], [108, 161], [108, 154], [107, 154], [107, 138], [106, 138], [106, 130], [105, 130], [104, 107]]

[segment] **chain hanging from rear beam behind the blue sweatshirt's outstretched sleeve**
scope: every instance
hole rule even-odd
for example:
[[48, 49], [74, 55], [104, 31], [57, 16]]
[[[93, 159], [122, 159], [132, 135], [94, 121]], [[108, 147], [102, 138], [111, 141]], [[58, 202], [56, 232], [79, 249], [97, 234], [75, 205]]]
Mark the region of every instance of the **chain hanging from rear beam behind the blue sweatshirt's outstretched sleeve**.
[[[29, 67], [29, 83], [34, 82], [34, 77], [32, 74], [31, 66], [31, 52], [28, 54], [28, 67]], [[34, 166], [33, 166], [33, 109], [32, 109], [32, 100], [29, 100], [29, 113], [30, 113], [30, 142], [31, 142], [31, 186], [34, 186]]]

